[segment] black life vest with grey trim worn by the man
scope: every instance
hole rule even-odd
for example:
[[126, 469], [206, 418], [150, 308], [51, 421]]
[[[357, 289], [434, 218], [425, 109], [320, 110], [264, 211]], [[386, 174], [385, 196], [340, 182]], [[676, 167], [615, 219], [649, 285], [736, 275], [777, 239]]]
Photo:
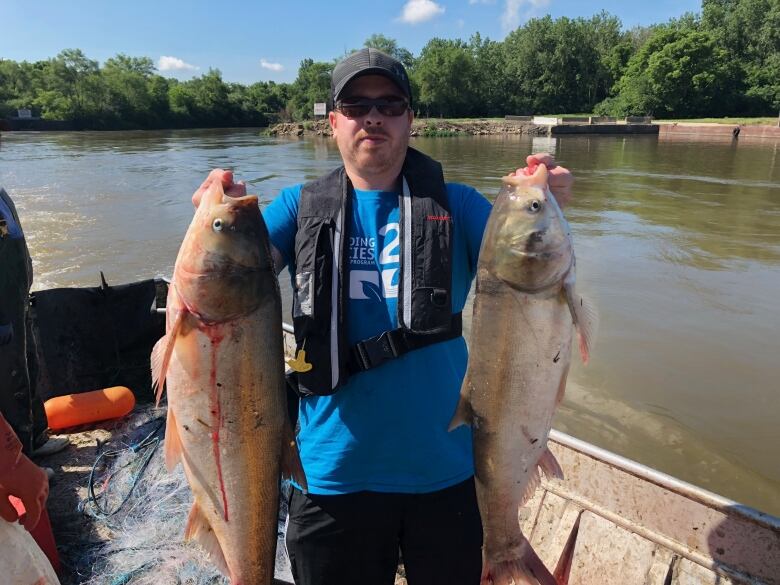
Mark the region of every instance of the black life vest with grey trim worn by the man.
[[332, 394], [352, 374], [461, 335], [461, 314], [452, 314], [452, 216], [441, 165], [409, 148], [401, 175], [398, 328], [351, 347], [346, 306], [352, 183], [341, 166], [301, 189], [293, 326], [297, 350], [313, 366], [290, 376], [301, 395]]

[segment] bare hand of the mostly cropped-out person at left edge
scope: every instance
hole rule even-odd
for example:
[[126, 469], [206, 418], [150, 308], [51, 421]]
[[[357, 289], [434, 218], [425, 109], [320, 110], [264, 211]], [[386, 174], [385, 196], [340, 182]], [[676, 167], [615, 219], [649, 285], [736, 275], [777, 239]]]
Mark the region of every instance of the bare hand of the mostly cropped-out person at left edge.
[[20, 455], [16, 466], [11, 470], [3, 470], [0, 475], [0, 517], [8, 522], [16, 522], [19, 515], [16, 508], [8, 500], [8, 496], [16, 496], [24, 504], [27, 511], [22, 526], [32, 530], [41, 518], [41, 511], [46, 506], [49, 497], [49, 478], [46, 472], [35, 465], [26, 455]]

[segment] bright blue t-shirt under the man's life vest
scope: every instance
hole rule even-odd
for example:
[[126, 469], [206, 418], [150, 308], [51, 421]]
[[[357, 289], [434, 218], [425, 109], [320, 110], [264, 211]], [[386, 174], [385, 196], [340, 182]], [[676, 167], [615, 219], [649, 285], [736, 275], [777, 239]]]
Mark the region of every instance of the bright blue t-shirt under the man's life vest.
[[[264, 210], [271, 243], [295, 267], [301, 185]], [[463, 310], [474, 280], [490, 203], [466, 185], [447, 184], [452, 216], [452, 310]], [[349, 225], [350, 345], [397, 325], [400, 268], [398, 194], [355, 191]], [[429, 345], [353, 375], [330, 396], [301, 400], [298, 447], [309, 490], [425, 493], [474, 473], [471, 431], [449, 432], [466, 373], [463, 337]]]

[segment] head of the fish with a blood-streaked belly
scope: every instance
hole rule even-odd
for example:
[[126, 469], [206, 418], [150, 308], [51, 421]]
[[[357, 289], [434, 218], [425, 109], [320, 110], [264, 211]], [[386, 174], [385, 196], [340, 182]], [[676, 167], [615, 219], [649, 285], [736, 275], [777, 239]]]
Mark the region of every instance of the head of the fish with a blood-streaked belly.
[[212, 184], [176, 259], [174, 286], [187, 309], [210, 323], [256, 309], [276, 282], [268, 241], [257, 196], [228, 197]]

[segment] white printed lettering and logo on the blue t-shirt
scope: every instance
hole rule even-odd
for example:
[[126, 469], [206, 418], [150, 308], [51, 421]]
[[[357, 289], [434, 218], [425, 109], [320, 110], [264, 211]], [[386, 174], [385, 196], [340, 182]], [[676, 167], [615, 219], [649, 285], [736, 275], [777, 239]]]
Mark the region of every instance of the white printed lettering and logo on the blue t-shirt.
[[[350, 299], [371, 299], [382, 302], [383, 299], [394, 299], [398, 297], [398, 272], [400, 266], [388, 266], [385, 264], [399, 264], [400, 256], [400, 226], [398, 222], [388, 223], [379, 228], [379, 235], [386, 236], [392, 234], [385, 242], [382, 251], [379, 253], [379, 265], [381, 272], [377, 270], [354, 270], [349, 271], [349, 298]], [[349, 239], [349, 263], [372, 264], [374, 265], [374, 248], [376, 247], [375, 238], [350, 238]], [[381, 278], [380, 278], [381, 274]]]

